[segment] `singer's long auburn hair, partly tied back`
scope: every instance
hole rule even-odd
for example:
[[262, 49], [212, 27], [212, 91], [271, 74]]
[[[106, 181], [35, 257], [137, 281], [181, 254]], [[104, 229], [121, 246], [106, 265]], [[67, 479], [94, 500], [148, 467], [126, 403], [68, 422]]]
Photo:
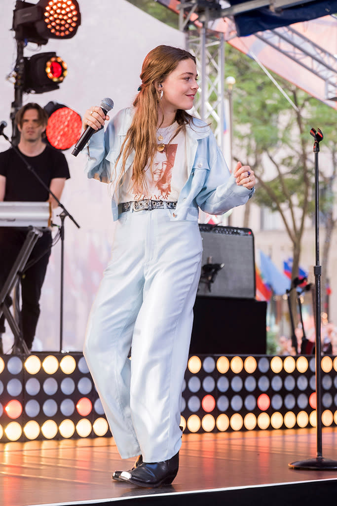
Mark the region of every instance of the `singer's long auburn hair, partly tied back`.
[[[133, 189], [141, 191], [146, 188], [144, 169], [148, 163], [152, 166], [157, 151], [158, 104], [159, 107], [161, 106], [158, 84], [175, 70], [180, 61], [187, 59], [191, 59], [196, 63], [195, 57], [188, 51], [163, 45], [157, 46], [146, 55], [140, 74], [142, 84], [133, 103], [135, 114], [115, 164], [116, 169], [117, 163], [122, 157], [121, 171], [116, 182], [117, 186], [122, 184], [128, 156], [135, 151], [132, 176]], [[162, 113], [164, 114], [163, 110]], [[181, 130], [184, 131], [186, 124], [191, 124], [193, 116], [183, 109], [178, 109], [175, 119], [178, 128], [173, 137], [176, 137]]]

